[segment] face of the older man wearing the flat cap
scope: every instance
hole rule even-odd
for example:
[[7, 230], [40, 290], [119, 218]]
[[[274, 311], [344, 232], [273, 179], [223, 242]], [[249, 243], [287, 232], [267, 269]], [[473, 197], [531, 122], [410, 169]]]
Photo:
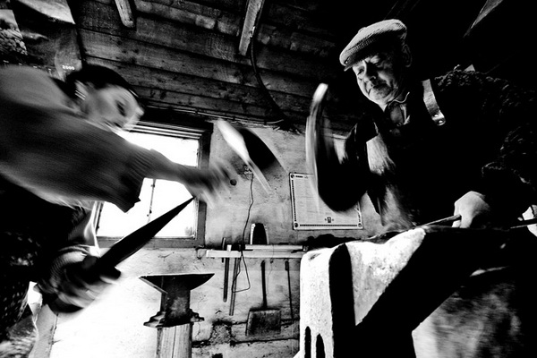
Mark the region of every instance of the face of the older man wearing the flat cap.
[[363, 95], [382, 109], [403, 91], [401, 79], [405, 69], [392, 51], [365, 57], [353, 65], [353, 71]]

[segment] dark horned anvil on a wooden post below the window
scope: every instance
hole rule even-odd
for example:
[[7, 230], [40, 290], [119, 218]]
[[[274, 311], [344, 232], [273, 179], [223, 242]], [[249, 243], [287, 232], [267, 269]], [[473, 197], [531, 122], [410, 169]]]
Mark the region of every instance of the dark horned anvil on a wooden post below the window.
[[156, 288], [162, 295], [160, 311], [144, 326], [152, 328], [174, 327], [203, 320], [190, 309], [191, 291], [206, 283], [214, 274], [165, 274], [148, 275], [140, 279]]

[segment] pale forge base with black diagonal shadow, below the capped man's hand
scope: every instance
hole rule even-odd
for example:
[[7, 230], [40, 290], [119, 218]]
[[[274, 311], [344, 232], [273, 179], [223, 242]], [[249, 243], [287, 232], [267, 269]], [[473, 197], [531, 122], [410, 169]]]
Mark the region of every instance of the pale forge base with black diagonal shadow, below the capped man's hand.
[[295, 358], [415, 356], [414, 328], [506, 240], [497, 230], [421, 226], [385, 243], [308, 252]]

